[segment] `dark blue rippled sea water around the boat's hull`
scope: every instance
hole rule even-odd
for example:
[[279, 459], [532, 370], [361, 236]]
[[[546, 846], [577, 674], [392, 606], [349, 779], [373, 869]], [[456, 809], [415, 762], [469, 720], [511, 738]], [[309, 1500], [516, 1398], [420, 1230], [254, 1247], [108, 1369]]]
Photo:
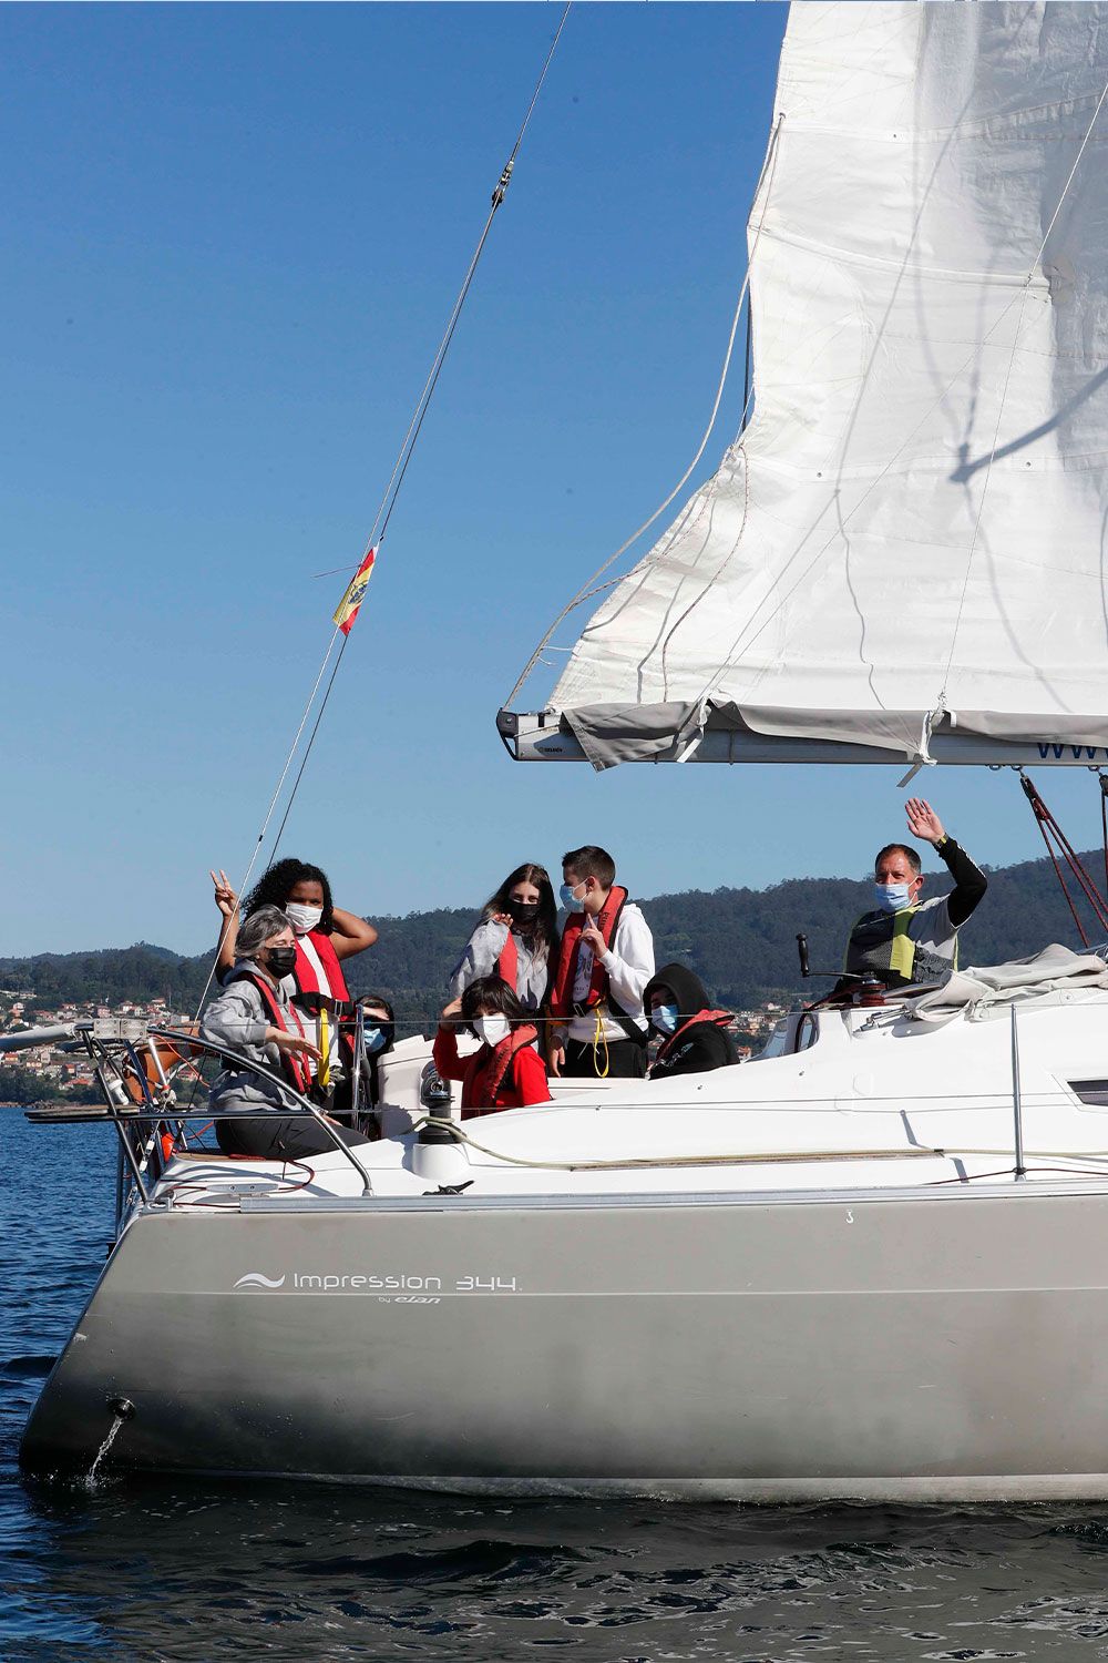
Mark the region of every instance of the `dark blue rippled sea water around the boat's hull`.
[[1108, 1656], [1108, 1507], [27, 1487], [20, 1429], [108, 1242], [110, 1139], [95, 1126], [28, 1128], [0, 1109], [5, 1663]]

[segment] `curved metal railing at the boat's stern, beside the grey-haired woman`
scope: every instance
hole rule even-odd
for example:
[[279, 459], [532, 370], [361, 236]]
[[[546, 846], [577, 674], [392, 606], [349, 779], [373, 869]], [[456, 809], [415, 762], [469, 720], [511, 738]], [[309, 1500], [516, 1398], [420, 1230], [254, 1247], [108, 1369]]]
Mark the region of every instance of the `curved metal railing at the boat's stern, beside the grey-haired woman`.
[[[360, 1008], [357, 1039], [360, 1039]], [[28, 1118], [38, 1123], [65, 1121], [70, 1124], [93, 1119], [111, 1121], [118, 1137], [116, 1234], [135, 1206], [151, 1204], [153, 1187], [168, 1164], [163, 1133], [168, 1133], [176, 1144], [184, 1141], [186, 1126], [213, 1119], [214, 1111], [208, 1101], [208, 1086], [199, 1071], [203, 1058], [231, 1064], [274, 1086], [282, 1104], [279, 1113], [316, 1121], [327, 1142], [357, 1172], [362, 1194], [372, 1194], [367, 1169], [359, 1161], [357, 1152], [342, 1141], [324, 1111], [296, 1091], [282, 1074], [261, 1063], [246, 1061], [229, 1046], [204, 1039], [198, 1033], [161, 1028], [138, 1018], [110, 1016], [5, 1034], [0, 1038], [0, 1056], [42, 1046], [85, 1051], [93, 1063], [96, 1084], [105, 1103], [103, 1109], [91, 1113], [90, 1106], [73, 1104], [66, 1106], [63, 1114], [32, 1109]], [[360, 1058], [364, 1046], [359, 1046], [354, 1054]], [[193, 1094], [198, 1083], [203, 1086], [203, 1103], [178, 1101], [174, 1081], [183, 1069], [191, 1076]], [[354, 1074], [352, 1108], [357, 1114], [360, 1069], [355, 1069]], [[266, 1121], [272, 1113], [267, 1108], [221, 1108], [216, 1118], [221, 1121]]]

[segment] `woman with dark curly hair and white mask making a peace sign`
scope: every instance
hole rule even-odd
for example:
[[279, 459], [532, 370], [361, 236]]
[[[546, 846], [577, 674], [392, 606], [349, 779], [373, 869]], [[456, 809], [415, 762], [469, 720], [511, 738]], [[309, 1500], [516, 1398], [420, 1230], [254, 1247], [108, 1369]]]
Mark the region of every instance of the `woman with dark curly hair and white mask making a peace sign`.
[[[213, 871], [211, 880], [216, 886], [216, 906], [224, 920], [216, 966], [223, 981], [236, 961], [239, 898], [228, 883], [226, 871]], [[316, 1026], [316, 1043], [322, 1053], [317, 1096], [326, 1101], [341, 1081], [349, 1079], [351, 1059], [339, 1044], [336, 1021], [337, 1016], [349, 1016], [352, 1008], [342, 961], [372, 946], [377, 931], [364, 918], [336, 906], [327, 875], [296, 856], [279, 860], [262, 873], [243, 903], [243, 920], [262, 906], [277, 906], [296, 933], [296, 963], [284, 978], [284, 989]]]

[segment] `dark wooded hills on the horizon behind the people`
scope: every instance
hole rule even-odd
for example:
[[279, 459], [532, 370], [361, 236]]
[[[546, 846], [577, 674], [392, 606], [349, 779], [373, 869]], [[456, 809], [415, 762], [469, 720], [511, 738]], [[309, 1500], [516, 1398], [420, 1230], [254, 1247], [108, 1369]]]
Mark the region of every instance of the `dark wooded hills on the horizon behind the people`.
[[[1090, 871], [1101, 870], [1100, 851], [1083, 858]], [[949, 883], [945, 871], [930, 875], [925, 895], [942, 893]], [[789, 878], [767, 890], [686, 890], [641, 905], [655, 931], [658, 963], [683, 960], [716, 1001], [744, 1009], [801, 991], [797, 931], [809, 938], [814, 970], [837, 970], [852, 920], [870, 905], [870, 885]], [[400, 1018], [429, 1023], [445, 1001], [447, 976], [473, 920], [470, 908], [374, 920], [380, 940], [351, 965], [352, 991], [385, 993]], [[1096, 941], [1093, 926], [1086, 928]], [[1047, 941], [1081, 945], [1050, 861], [990, 870], [988, 895], [962, 931], [962, 963], [1022, 958]], [[0, 986], [33, 988], [42, 1008], [66, 999], [118, 1004], [161, 996], [179, 1011], [194, 1008], [208, 966], [208, 955], [181, 958], [140, 941], [130, 948], [0, 958]]]

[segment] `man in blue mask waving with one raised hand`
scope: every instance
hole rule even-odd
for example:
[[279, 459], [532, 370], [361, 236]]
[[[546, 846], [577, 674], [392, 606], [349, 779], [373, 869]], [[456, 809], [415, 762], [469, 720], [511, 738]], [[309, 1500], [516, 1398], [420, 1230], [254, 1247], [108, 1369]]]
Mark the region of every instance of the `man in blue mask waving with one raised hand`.
[[947, 836], [930, 803], [910, 797], [905, 807], [909, 832], [932, 845], [954, 878], [954, 890], [922, 901], [924, 876], [917, 851], [905, 843], [887, 843], [879, 850], [874, 861], [875, 905], [851, 930], [842, 968], [856, 976], [869, 971], [887, 988], [935, 981], [955, 970], [958, 928], [988, 888], [985, 873]]

